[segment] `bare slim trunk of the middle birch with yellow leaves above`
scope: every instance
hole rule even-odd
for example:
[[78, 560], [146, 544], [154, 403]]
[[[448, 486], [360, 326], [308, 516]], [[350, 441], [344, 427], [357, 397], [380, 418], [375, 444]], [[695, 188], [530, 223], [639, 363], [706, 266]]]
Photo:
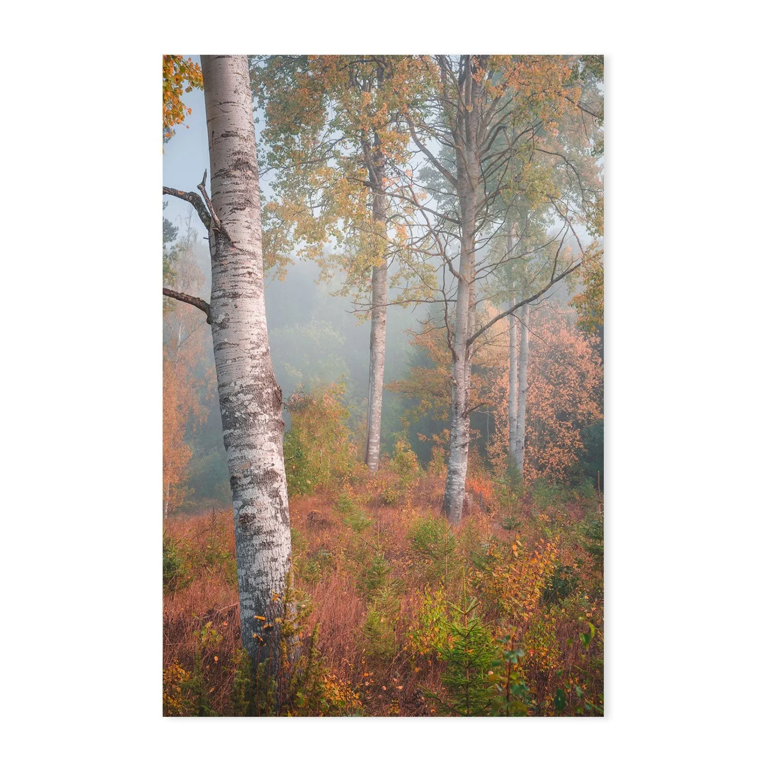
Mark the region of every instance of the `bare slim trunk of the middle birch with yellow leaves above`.
[[[383, 168], [380, 169], [383, 172]], [[377, 230], [386, 232], [386, 209], [384, 196], [374, 193], [373, 220]], [[384, 357], [386, 356], [386, 314], [388, 264], [383, 262], [373, 268], [373, 295], [370, 313], [370, 370], [367, 380], [367, 442], [365, 463], [371, 472], [378, 470], [381, 441], [381, 407], [384, 401]]]

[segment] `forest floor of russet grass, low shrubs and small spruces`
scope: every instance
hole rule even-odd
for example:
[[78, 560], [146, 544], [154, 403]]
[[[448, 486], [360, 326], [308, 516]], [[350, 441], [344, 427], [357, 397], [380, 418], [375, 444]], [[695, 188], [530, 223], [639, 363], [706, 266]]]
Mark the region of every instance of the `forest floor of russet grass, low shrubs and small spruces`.
[[[294, 584], [308, 606], [301, 639], [306, 645], [317, 627], [314, 656], [321, 657], [314, 696], [321, 706], [315, 700], [315, 709], [294, 713], [439, 716], [452, 705], [466, 714], [446, 675], [463, 662], [451, 654], [467, 625], [456, 608], [476, 598], [469, 614], [476, 631], [465, 637], [464, 660], [472, 643], [478, 659], [482, 647], [495, 652], [496, 666], [503, 650], [521, 650], [512, 663], [519, 686], [513, 694], [506, 688], [519, 710], [600, 715], [597, 493], [538, 483], [506, 497], [487, 477], [469, 479], [474, 502], [454, 529], [439, 511], [443, 476], [424, 474], [403, 492], [397, 482], [380, 471], [354, 487], [291, 499]], [[166, 519], [163, 581], [164, 713], [242, 714], [231, 509]], [[472, 699], [468, 713], [491, 713], [482, 695], [492, 694], [498, 677], [487, 662], [460, 673], [480, 693], [479, 707]]]

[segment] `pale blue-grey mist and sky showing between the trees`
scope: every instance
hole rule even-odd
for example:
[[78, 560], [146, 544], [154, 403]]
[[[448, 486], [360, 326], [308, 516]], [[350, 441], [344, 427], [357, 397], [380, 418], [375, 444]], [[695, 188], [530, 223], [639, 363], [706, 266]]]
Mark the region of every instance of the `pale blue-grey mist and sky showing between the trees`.
[[[199, 63], [199, 56], [190, 57]], [[176, 134], [164, 145], [163, 186], [194, 190], [209, 168], [208, 136], [206, 128], [205, 94], [199, 89], [184, 94], [184, 103], [192, 114]], [[263, 116], [255, 112], [256, 141], [260, 143]], [[259, 169], [260, 170], [260, 169]], [[261, 177], [264, 200], [271, 196], [270, 174]], [[264, 201], [262, 200], [262, 202]], [[209, 301], [210, 255], [207, 232], [191, 206], [173, 196], [163, 196], [166, 205], [163, 218], [178, 229], [171, 245], [185, 242], [199, 268], [201, 285], [189, 292]], [[582, 227], [581, 235], [585, 235]], [[574, 241], [573, 241], [574, 242]], [[478, 254], [484, 249], [478, 250]], [[265, 275], [265, 302], [269, 334], [269, 347], [275, 377], [287, 402], [299, 386], [316, 391], [336, 382], [344, 385], [344, 406], [349, 411], [351, 433], [358, 440], [364, 438], [367, 407], [368, 366], [370, 360], [370, 321], [352, 311], [351, 298], [333, 295], [341, 288], [343, 275], [337, 272], [331, 282], [318, 281], [320, 269], [314, 262], [297, 258], [288, 265], [284, 279], [272, 269]], [[390, 301], [396, 291], [389, 290]], [[548, 305], [564, 305], [571, 298], [565, 281], [558, 283], [545, 295]], [[542, 305], [533, 306], [532, 311]], [[414, 307], [390, 305], [387, 310], [387, 346], [384, 370], [384, 386], [393, 380], [407, 377], [411, 367], [433, 367], [433, 361], [423, 348], [414, 347], [410, 340], [430, 315], [439, 318], [441, 304], [421, 304]], [[167, 333], [167, 328], [166, 328]], [[189, 424], [186, 441], [192, 448], [189, 461], [187, 498], [189, 505], [205, 502], [231, 502], [229, 472], [223, 447], [221, 415], [215, 387], [215, 364], [212, 337], [202, 319], [185, 334], [194, 334], [202, 350], [198, 374], [200, 380], [206, 375], [209, 388], [207, 410], [203, 423]], [[381, 419], [381, 453], [390, 453], [398, 434], [403, 433], [402, 417], [413, 407], [415, 400], [407, 400], [384, 388]], [[492, 413], [479, 410], [471, 415], [472, 428], [478, 432], [474, 440], [480, 456], [486, 456], [487, 442], [494, 431]], [[283, 409], [285, 431], [290, 428], [290, 413]], [[418, 438], [418, 434], [432, 436], [447, 424], [423, 416], [407, 428], [408, 442], [413, 446], [422, 466], [431, 457], [431, 443]], [[598, 448], [601, 450], [601, 439]]]

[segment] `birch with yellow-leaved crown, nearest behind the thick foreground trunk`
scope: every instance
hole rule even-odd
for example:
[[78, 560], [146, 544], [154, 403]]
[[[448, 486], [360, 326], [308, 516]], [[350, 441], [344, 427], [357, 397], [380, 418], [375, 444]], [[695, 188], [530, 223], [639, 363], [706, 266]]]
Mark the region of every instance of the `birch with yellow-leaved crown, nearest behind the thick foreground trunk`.
[[276, 171], [269, 247], [282, 260], [294, 250], [313, 259], [325, 277], [342, 268], [342, 292], [370, 317], [364, 460], [371, 472], [380, 459], [390, 266], [405, 237], [392, 168], [407, 156], [401, 110], [417, 97], [418, 72], [410, 57], [370, 54], [259, 57], [252, 67], [265, 157]]

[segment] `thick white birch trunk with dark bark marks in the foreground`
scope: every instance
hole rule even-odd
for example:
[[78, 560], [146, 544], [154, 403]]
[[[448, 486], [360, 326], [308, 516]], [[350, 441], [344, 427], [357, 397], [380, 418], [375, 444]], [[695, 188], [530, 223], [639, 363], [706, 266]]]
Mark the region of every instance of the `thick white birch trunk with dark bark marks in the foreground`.
[[[261, 203], [248, 60], [202, 56], [210, 150], [210, 321], [232, 485], [242, 645], [278, 660], [291, 561], [282, 392], [266, 328]], [[271, 655], [270, 655], [271, 653]]]

